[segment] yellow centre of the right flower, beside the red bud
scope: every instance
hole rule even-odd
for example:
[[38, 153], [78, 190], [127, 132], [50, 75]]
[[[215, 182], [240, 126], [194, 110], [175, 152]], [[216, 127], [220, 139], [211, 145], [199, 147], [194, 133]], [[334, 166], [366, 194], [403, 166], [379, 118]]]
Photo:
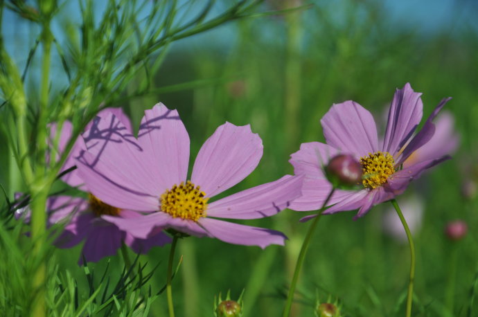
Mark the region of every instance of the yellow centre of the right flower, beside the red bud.
[[369, 153], [369, 156], [360, 158], [362, 172], [364, 173], [362, 183], [365, 188], [378, 188], [387, 183], [387, 179], [395, 172], [393, 156], [389, 152]]

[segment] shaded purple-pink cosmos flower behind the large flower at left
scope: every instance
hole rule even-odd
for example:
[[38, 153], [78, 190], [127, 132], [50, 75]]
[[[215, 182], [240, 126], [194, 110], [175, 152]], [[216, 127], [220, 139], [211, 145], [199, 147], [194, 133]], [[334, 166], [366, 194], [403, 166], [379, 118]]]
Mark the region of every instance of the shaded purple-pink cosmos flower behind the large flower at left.
[[[125, 129], [125, 131], [130, 132], [132, 130], [130, 120], [123, 114], [121, 109], [110, 108], [100, 111], [98, 116], [87, 125], [83, 137], [76, 140], [69, 157], [60, 171], [65, 171], [73, 167], [76, 163], [73, 158], [78, 156], [83, 150], [101, 151], [107, 149], [109, 144], [105, 142], [105, 140], [109, 139], [109, 136], [98, 132], [97, 123], [101, 117], [107, 116], [108, 114], [115, 114], [116, 118], [119, 118], [118, 120], [121, 120], [123, 123], [122, 128]], [[51, 140], [49, 140], [49, 143], [53, 144], [57, 126], [52, 124], [50, 131]], [[71, 133], [72, 125], [69, 121], [65, 121], [60, 131], [60, 138], [58, 139], [57, 157], [64, 151], [64, 147], [71, 138]], [[48, 199], [46, 208], [48, 212], [48, 226], [59, 223], [65, 224], [64, 230], [55, 241], [55, 245], [58, 247], [71, 248], [85, 240], [82, 255], [87, 262], [97, 262], [103, 257], [115, 255], [123, 242], [127, 246], [130, 246], [136, 253], [147, 253], [152, 246], [163, 246], [171, 242], [171, 238], [162, 232], [157, 232], [148, 239], [133, 237], [118, 228], [113, 222], [105, 219], [105, 215], [109, 215], [113, 219], [116, 217], [130, 219], [138, 215], [109, 206], [94, 197], [94, 195], [89, 192], [78, 170], [73, 170], [65, 174], [62, 176], [62, 180], [72, 187], [86, 192], [88, 199], [69, 196], [55, 196]], [[25, 220], [29, 221], [30, 215], [28, 210], [18, 211], [26, 212]], [[16, 216], [18, 218], [20, 214], [17, 213]], [[83, 256], [80, 257], [80, 264], [83, 262]]]

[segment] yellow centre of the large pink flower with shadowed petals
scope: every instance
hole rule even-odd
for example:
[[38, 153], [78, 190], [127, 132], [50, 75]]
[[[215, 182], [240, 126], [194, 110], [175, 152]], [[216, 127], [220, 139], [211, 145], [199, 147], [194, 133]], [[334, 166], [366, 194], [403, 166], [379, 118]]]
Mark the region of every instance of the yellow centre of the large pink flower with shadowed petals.
[[186, 184], [181, 182], [161, 194], [161, 211], [175, 218], [197, 221], [200, 217], [206, 217], [209, 198], [205, 198], [205, 195], [191, 181], [186, 181]]

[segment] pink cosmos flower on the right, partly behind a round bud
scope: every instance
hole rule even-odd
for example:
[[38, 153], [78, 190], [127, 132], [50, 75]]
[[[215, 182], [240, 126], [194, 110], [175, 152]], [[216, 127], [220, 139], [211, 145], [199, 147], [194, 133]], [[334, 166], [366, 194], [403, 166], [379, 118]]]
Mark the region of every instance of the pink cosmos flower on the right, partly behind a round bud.
[[[305, 174], [303, 196], [289, 207], [293, 210], [317, 210], [321, 208], [332, 185], [326, 179], [322, 166], [330, 157], [339, 153], [353, 154], [362, 164], [364, 173], [361, 190], [337, 189], [324, 214], [358, 209], [356, 217], [362, 217], [374, 205], [393, 199], [420, 174], [449, 156], [441, 152], [430, 154], [420, 161], [404, 162], [416, 150], [426, 145], [435, 132], [432, 120], [450, 98], [443, 99], [434, 109], [420, 132], [414, 132], [423, 116], [421, 93], [405, 84], [393, 96], [384, 141], [378, 142], [377, 128], [370, 112], [357, 102], [346, 101], [333, 105], [322, 118], [326, 143], [303, 143], [292, 154], [290, 163], [295, 174]], [[430, 153], [430, 152], [429, 152]], [[307, 221], [316, 215], [303, 217]]]

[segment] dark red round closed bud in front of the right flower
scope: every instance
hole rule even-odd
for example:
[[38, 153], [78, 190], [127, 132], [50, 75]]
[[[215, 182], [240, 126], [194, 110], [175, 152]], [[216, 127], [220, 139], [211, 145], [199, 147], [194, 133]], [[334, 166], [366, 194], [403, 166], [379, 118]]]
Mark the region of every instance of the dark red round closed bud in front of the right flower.
[[334, 185], [357, 185], [362, 181], [362, 165], [350, 154], [339, 154], [328, 162], [328, 179]]

